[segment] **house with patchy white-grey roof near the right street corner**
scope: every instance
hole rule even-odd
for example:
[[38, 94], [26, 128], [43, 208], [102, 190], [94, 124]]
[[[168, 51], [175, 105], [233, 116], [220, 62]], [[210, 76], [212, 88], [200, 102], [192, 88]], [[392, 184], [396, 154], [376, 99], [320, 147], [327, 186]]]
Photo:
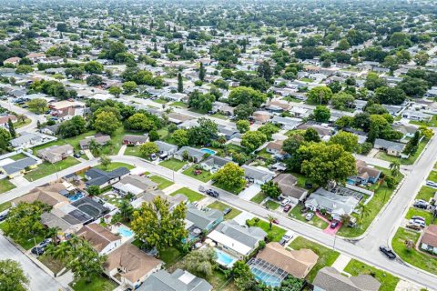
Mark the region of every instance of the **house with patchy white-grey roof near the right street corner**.
[[340, 195], [320, 187], [305, 201], [305, 206], [312, 211], [324, 209], [334, 220], [341, 221], [341, 216], [351, 216], [359, 203], [360, 199], [356, 196]]

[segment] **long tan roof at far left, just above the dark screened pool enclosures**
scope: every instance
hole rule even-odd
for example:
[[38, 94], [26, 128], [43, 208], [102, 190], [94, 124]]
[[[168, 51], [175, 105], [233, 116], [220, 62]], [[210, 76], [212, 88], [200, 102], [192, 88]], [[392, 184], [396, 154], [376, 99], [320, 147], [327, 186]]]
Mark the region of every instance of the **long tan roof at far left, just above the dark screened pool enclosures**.
[[62, 183], [56, 183], [48, 186], [40, 186], [32, 189], [25, 196], [18, 197], [14, 200], [15, 204], [20, 202], [33, 203], [40, 201], [49, 206], [56, 206], [61, 203], [68, 204], [68, 198], [59, 194], [59, 191], [66, 190]]

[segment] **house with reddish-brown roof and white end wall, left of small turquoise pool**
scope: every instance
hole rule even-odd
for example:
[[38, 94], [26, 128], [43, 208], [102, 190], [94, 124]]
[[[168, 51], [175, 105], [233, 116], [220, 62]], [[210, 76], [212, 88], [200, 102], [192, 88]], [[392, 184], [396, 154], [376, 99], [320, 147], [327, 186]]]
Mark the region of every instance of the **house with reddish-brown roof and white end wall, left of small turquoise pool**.
[[83, 226], [76, 234], [83, 237], [100, 255], [107, 255], [111, 250], [121, 245], [121, 237], [114, 235], [99, 224]]

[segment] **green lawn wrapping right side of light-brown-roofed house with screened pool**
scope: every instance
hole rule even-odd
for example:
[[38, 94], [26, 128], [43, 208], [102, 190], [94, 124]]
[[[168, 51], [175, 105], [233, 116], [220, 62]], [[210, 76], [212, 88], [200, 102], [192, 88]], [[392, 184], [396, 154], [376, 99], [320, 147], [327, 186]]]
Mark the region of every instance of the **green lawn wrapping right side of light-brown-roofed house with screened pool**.
[[331, 250], [326, 246], [321, 246], [318, 243], [314, 243], [313, 241], [310, 241], [302, 236], [296, 237], [289, 246], [295, 250], [309, 248], [319, 256], [316, 265], [311, 269], [310, 273], [306, 277], [310, 283], [312, 283], [321, 268], [325, 266], [332, 266], [335, 260], [340, 256], [339, 252]]

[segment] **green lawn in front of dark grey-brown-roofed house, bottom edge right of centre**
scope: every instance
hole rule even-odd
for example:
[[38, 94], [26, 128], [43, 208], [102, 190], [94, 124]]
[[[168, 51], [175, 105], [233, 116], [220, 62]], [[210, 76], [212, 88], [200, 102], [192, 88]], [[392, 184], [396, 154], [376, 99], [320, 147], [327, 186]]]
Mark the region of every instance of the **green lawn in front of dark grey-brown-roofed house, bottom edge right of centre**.
[[371, 275], [381, 283], [380, 291], [391, 291], [396, 288], [399, 282], [397, 276], [377, 269], [376, 267], [366, 265], [356, 259], [351, 259], [344, 271], [351, 274], [351, 276], [359, 276], [361, 274]]

